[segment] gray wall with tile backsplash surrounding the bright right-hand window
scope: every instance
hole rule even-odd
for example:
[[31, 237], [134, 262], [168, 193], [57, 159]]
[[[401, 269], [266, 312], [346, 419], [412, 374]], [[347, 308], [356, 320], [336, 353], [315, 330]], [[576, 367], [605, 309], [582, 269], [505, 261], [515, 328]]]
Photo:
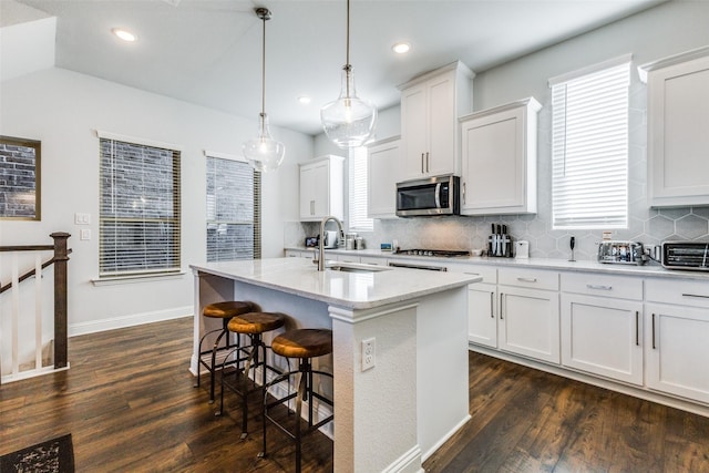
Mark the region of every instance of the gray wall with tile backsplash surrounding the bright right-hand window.
[[[615, 239], [657, 244], [664, 239], [709, 238], [709, 208], [650, 209], [647, 206], [647, 88], [635, 66], [709, 44], [709, 2], [671, 1], [491, 69], [475, 71], [473, 109], [490, 109], [526, 96], [543, 109], [538, 125], [538, 213], [487, 217], [434, 217], [377, 220], [374, 232], [362, 234], [368, 247], [398, 239], [401, 247], [476, 249], [485, 245], [491, 223], [506, 224], [515, 239], [530, 240], [531, 256], [567, 258], [572, 233], [552, 230], [551, 224], [551, 94], [547, 81], [621, 54], [633, 53], [629, 123], [629, 228], [615, 230]], [[399, 134], [398, 107], [380, 113], [377, 138]], [[325, 142], [325, 143], [323, 143]], [[316, 140], [316, 152], [327, 146]], [[306, 227], [302, 233], [311, 232]], [[593, 259], [603, 230], [575, 230], [576, 258]]]

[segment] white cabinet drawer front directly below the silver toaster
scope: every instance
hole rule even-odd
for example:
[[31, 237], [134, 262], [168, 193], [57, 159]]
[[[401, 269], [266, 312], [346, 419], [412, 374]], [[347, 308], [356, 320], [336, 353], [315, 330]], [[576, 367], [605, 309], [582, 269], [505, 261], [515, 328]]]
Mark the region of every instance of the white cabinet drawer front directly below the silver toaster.
[[562, 291], [641, 300], [643, 279], [590, 273], [562, 273]]

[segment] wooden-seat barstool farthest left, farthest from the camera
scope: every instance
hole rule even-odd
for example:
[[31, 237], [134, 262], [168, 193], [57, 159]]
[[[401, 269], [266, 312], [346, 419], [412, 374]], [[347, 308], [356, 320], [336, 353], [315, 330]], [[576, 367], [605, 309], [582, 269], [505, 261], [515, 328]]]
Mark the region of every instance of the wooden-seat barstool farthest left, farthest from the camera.
[[[214, 402], [214, 384], [215, 384], [215, 371], [216, 371], [216, 359], [217, 352], [220, 350], [232, 350], [232, 343], [229, 342], [229, 337], [226, 338], [226, 342], [224, 347], [219, 347], [219, 342], [229, 333], [227, 325], [233, 317], [240, 316], [242, 313], [250, 312], [255, 309], [254, 304], [242, 301], [242, 300], [228, 300], [224, 302], [209, 304], [202, 310], [202, 316], [209, 319], [222, 319], [222, 328], [210, 330], [206, 332], [202, 339], [199, 339], [199, 360], [197, 362], [197, 383], [195, 388], [199, 388], [199, 379], [201, 379], [201, 367], [204, 367], [209, 370], [209, 403]], [[202, 345], [204, 340], [212, 333], [219, 333], [214, 341], [214, 346], [210, 350], [202, 351]], [[236, 347], [238, 347], [238, 339], [236, 342]], [[203, 356], [212, 353], [210, 363], [204, 361]]]

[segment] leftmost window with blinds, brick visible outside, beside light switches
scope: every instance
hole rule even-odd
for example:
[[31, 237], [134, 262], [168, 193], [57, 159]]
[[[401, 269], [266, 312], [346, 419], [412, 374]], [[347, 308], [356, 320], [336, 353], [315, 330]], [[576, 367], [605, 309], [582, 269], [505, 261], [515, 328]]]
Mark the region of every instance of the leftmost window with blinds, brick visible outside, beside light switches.
[[99, 132], [99, 276], [179, 270], [179, 151]]

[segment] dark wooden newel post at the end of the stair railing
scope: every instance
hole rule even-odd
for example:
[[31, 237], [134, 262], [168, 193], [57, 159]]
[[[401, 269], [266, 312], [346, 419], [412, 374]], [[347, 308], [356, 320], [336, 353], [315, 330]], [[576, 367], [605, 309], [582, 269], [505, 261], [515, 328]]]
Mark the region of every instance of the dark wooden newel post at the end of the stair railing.
[[50, 235], [54, 239], [54, 368], [65, 368], [69, 359], [68, 313], [66, 313], [66, 240], [71, 236], [64, 232]]

